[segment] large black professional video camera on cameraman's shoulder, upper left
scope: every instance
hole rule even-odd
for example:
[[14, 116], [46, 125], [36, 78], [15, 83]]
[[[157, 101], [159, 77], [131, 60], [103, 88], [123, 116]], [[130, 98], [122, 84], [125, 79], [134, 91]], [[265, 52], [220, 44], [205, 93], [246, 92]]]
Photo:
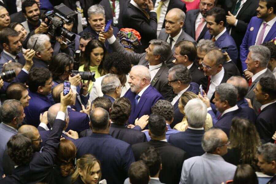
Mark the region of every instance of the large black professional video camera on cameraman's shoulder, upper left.
[[71, 10], [63, 3], [54, 7], [54, 11], [47, 11], [45, 18], [48, 19], [45, 24], [48, 25], [48, 34], [51, 36], [63, 36], [68, 41], [73, 41], [76, 35], [63, 27], [63, 24], [74, 22], [75, 11]]

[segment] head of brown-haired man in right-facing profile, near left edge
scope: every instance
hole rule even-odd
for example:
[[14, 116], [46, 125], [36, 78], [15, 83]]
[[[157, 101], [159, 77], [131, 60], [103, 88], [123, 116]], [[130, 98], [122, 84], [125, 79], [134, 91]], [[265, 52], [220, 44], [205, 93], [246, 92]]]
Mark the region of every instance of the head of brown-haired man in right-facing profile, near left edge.
[[26, 85], [19, 82], [12, 83], [8, 86], [6, 96], [8, 99], [19, 100], [22, 103], [23, 108], [29, 106], [29, 101], [31, 99]]

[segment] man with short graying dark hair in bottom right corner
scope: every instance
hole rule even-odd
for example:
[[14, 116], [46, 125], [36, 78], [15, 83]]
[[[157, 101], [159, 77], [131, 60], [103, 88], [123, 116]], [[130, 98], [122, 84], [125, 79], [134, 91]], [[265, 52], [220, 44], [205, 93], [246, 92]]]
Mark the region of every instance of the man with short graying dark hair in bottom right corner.
[[258, 166], [263, 174], [272, 176], [267, 183], [276, 183], [276, 144], [266, 143], [257, 150]]

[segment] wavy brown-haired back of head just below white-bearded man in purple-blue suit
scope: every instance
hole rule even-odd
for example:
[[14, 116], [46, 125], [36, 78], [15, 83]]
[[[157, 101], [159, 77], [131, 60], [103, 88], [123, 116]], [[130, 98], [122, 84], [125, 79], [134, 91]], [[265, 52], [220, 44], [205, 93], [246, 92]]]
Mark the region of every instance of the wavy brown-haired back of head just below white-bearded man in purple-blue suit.
[[110, 119], [113, 123], [125, 125], [131, 113], [131, 103], [128, 98], [115, 100], [110, 109]]

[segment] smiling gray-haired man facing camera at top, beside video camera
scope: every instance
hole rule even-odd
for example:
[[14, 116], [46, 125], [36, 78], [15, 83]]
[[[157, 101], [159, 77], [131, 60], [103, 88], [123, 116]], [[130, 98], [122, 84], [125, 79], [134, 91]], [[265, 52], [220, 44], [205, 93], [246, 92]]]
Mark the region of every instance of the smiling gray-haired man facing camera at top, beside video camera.
[[[84, 32], [88, 31], [92, 33], [98, 40], [99, 33], [101, 32], [101, 29], [102, 29], [102, 25], [105, 25], [105, 10], [102, 5], [96, 4], [96, 5], [90, 6], [90, 8], [87, 11], [87, 14], [88, 14], [89, 25], [82, 32], [80, 32], [79, 35], [82, 36]], [[112, 28], [113, 28], [113, 35], [117, 36], [119, 29], [117, 27], [112, 27]], [[110, 48], [107, 40], [105, 40], [105, 48], [109, 53], [112, 52], [112, 48]]]

